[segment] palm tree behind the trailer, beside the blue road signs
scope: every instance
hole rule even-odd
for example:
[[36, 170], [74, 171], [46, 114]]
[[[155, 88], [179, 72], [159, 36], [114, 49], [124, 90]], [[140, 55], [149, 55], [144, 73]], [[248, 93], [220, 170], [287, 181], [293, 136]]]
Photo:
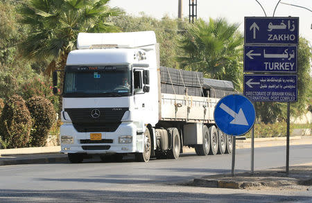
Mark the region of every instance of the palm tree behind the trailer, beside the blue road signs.
[[243, 36], [238, 24], [228, 24], [225, 19], [198, 19], [187, 26], [187, 32], [178, 39], [184, 56], [177, 57], [182, 67], [202, 71], [204, 76], [220, 80], [233, 80], [241, 86], [243, 73]]

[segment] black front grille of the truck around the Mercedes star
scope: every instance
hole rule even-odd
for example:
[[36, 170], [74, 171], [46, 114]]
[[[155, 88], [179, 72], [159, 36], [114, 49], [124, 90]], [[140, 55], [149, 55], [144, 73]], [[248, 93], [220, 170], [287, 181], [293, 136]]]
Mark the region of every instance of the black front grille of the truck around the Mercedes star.
[[[99, 112], [97, 118], [92, 117], [92, 111]], [[114, 132], [121, 124], [121, 118], [128, 107], [124, 108], [79, 108], [64, 109], [78, 132]]]

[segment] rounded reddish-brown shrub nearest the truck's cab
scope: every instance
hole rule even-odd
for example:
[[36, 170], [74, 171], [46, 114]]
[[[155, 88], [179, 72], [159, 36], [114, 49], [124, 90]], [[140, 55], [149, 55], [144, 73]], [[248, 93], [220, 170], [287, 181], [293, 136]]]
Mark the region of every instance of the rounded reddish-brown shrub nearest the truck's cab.
[[42, 96], [33, 96], [27, 100], [26, 105], [33, 118], [30, 145], [42, 147], [46, 145], [46, 139], [55, 121], [56, 113], [53, 104]]

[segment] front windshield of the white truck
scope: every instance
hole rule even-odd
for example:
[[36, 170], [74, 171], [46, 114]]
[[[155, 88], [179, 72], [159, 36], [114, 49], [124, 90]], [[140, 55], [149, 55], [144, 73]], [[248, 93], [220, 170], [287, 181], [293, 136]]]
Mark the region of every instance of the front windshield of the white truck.
[[129, 67], [66, 67], [64, 97], [130, 96]]

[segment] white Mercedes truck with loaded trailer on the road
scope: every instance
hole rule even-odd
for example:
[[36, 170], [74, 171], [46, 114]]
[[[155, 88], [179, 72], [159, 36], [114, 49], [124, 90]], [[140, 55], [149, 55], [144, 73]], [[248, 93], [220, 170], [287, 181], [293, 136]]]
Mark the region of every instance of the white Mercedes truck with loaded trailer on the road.
[[[145, 162], [177, 159], [183, 146], [197, 155], [232, 152], [232, 138], [217, 130], [213, 116], [216, 89], [233, 90], [232, 82], [176, 69], [173, 76], [173, 69], [159, 67], [153, 31], [79, 33], [77, 48], [68, 55], [62, 87], [61, 152], [71, 163], [94, 154], [103, 161], [128, 154]], [[57, 84], [55, 71], [55, 94]]]

